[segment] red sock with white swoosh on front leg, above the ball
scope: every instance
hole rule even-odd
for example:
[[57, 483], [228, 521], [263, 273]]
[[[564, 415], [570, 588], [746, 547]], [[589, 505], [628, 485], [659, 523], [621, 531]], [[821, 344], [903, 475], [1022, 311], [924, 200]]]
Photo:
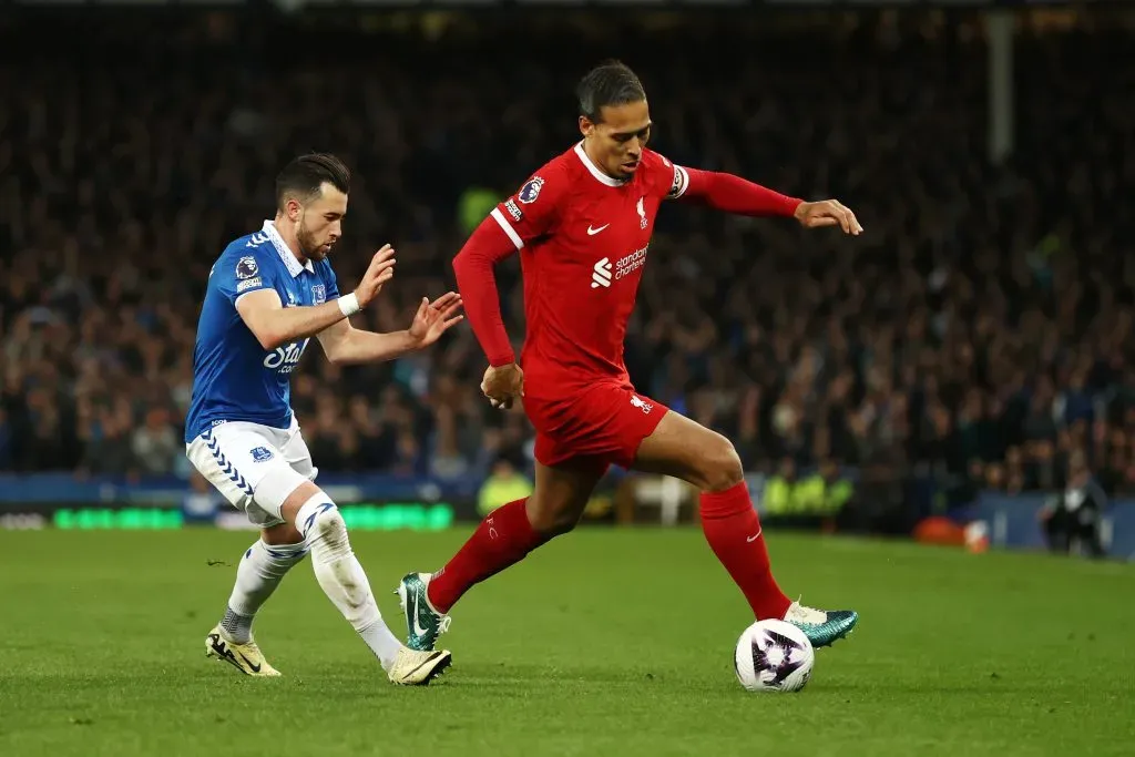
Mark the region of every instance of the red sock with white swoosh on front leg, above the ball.
[[792, 600], [773, 578], [760, 521], [745, 481], [724, 491], [701, 493], [701, 530], [757, 620], [784, 617]]

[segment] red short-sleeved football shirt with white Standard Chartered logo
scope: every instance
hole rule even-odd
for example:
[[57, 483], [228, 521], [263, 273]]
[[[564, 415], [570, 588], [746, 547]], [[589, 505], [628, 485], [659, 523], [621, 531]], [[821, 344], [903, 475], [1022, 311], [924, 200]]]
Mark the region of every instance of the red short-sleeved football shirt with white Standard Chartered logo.
[[684, 169], [650, 150], [630, 179], [614, 179], [580, 143], [493, 210], [521, 254], [529, 394], [595, 380], [629, 384], [623, 338], [654, 219], [662, 201], [681, 196], [688, 184]]

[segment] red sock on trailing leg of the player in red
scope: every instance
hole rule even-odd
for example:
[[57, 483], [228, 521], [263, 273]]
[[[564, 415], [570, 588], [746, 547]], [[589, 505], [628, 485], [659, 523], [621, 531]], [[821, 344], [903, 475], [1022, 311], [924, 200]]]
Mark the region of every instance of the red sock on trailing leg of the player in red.
[[489, 513], [457, 554], [434, 574], [426, 594], [434, 609], [449, 612], [473, 584], [519, 563], [547, 540], [532, 530], [524, 502], [510, 502]]

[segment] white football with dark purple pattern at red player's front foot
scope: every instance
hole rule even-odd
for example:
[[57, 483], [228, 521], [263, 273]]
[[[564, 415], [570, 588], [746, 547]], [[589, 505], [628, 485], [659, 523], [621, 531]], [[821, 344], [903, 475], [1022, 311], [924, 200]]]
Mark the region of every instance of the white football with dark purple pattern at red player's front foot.
[[816, 653], [804, 631], [784, 621], [757, 621], [737, 640], [733, 667], [749, 691], [799, 691]]

